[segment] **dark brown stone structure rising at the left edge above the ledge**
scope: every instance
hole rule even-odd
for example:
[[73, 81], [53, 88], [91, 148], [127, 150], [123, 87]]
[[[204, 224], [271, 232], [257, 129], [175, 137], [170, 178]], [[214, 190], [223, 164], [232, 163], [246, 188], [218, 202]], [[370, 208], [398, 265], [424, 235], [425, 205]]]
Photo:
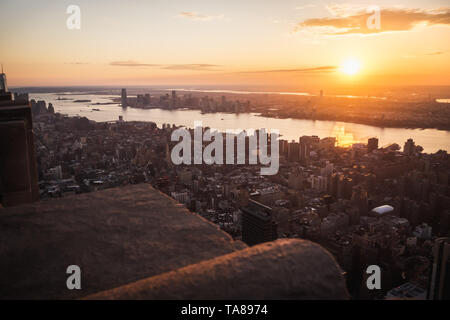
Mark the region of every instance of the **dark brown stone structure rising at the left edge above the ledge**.
[[0, 137], [0, 203], [6, 207], [38, 200], [31, 107], [28, 100], [13, 99], [3, 70], [0, 74]]

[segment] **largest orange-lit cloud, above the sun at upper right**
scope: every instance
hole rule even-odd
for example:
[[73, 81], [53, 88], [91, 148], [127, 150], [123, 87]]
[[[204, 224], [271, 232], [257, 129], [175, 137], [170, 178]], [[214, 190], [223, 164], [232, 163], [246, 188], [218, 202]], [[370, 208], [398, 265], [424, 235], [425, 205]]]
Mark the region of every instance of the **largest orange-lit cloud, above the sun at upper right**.
[[427, 26], [450, 25], [450, 8], [435, 10], [386, 8], [380, 9], [380, 28], [369, 28], [368, 18], [374, 15], [355, 6], [330, 5], [332, 18], [313, 18], [298, 23], [294, 32], [310, 31], [323, 35], [377, 34], [408, 31], [418, 24]]

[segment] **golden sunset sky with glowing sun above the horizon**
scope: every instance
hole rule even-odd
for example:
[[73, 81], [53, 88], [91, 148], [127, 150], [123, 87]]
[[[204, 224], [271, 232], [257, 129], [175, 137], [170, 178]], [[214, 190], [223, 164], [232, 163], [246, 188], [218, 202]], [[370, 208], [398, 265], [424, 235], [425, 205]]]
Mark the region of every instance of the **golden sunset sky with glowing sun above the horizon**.
[[374, 2], [380, 29], [364, 1], [2, 0], [0, 62], [10, 86], [450, 85], [448, 0]]

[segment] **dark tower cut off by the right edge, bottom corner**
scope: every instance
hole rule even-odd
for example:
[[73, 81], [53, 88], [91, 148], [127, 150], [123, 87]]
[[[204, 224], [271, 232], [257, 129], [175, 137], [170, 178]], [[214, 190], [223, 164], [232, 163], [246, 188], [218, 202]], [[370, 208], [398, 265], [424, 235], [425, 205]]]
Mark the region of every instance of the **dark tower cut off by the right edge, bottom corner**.
[[450, 238], [438, 238], [433, 246], [428, 299], [450, 299]]

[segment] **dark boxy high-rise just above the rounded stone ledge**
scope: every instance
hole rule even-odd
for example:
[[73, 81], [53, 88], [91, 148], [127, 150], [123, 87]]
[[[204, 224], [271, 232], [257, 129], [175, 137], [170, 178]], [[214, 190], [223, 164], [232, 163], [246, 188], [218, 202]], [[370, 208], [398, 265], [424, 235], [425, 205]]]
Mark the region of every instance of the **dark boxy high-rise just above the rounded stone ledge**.
[[277, 224], [272, 219], [272, 209], [254, 200], [249, 200], [242, 211], [242, 241], [252, 246], [276, 240]]

